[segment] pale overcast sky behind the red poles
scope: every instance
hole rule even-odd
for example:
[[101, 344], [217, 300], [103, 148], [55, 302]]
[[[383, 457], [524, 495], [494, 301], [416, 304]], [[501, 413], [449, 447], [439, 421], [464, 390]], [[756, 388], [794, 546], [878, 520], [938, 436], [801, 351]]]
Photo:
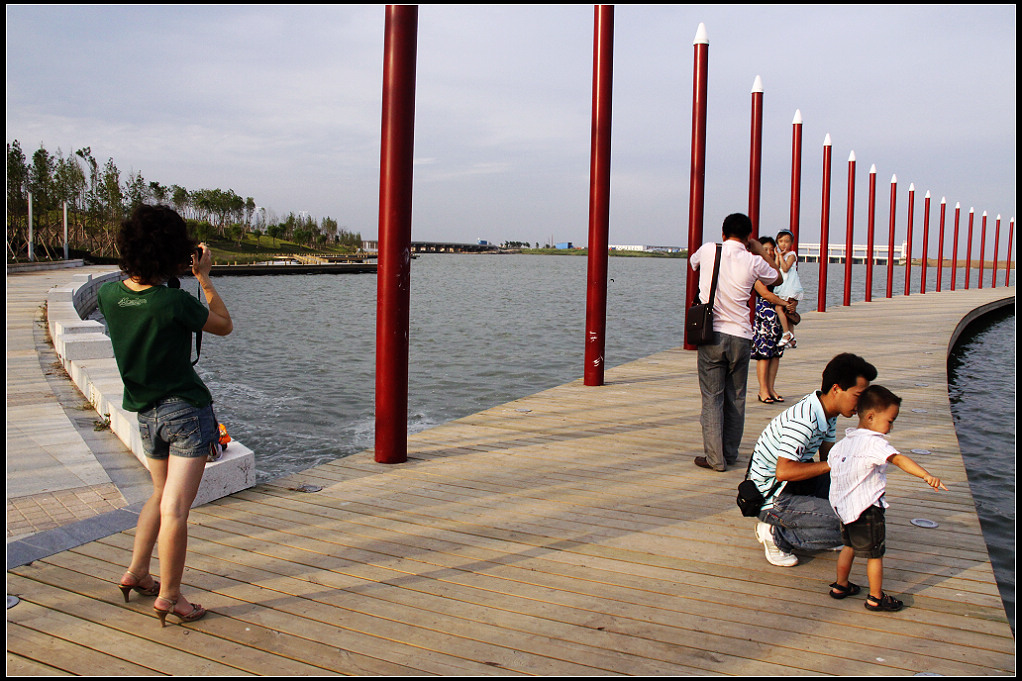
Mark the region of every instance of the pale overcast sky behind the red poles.
[[[6, 15], [7, 141], [27, 155], [40, 143], [65, 155], [90, 146], [123, 179], [230, 188], [280, 218], [307, 211], [376, 236], [382, 5], [7, 5]], [[996, 214], [1007, 225], [1015, 17], [1014, 5], [617, 6], [610, 242], [687, 242], [700, 22], [707, 239], [748, 208], [756, 76], [762, 233], [788, 224], [796, 108], [803, 241], [819, 238], [828, 133], [841, 240], [851, 151], [856, 242], [874, 164], [885, 235], [893, 174], [899, 241], [910, 183], [917, 225], [926, 191], [934, 229], [942, 196], [948, 216], [961, 202], [963, 226], [972, 207], [989, 212], [991, 232]], [[587, 241], [592, 57], [592, 5], [420, 7], [414, 240]]]

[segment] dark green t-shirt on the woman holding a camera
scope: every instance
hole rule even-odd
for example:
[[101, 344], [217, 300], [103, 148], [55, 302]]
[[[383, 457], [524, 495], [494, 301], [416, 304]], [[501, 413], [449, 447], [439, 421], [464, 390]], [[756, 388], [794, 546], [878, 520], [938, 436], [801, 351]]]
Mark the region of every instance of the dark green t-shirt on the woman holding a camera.
[[191, 365], [192, 336], [210, 316], [194, 297], [167, 286], [134, 291], [110, 281], [99, 287], [98, 305], [125, 384], [126, 410], [145, 411], [168, 397], [195, 407], [213, 402]]

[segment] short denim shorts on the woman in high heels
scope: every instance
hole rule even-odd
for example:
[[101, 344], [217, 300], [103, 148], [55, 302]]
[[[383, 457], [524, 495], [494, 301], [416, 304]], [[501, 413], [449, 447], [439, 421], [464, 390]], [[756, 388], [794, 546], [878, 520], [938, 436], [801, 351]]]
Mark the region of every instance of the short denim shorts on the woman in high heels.
[[213, 405], [193, 407], [177, 397], [160, 400], [138, 412], [142, 449], [150, 459], [170, 455], [194, 458], [207, 456], [210, 444], [219, 436]]

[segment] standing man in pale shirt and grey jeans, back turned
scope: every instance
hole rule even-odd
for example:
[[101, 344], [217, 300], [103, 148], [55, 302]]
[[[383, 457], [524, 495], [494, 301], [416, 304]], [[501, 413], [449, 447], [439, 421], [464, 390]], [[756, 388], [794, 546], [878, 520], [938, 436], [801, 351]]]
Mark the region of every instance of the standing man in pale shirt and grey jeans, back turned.
[[[749, 297], [756, 281], [768, 286], [781, 283], [781, 273], [765, 259], [758, 240], [751, 238], [752, 221], [741, 213], [729, 215], [722, 228], [724, 245], [721, 272], [713, 299], [716, 340], [699, 347], [699, 392], [702, 413], [703, 456], [695, 463], [725, 470], [738, 461], [738, 446], [745, 430], [745, 388], [752, 351]], [[708, 301], [713, 279], [716, 244], [704, 243], [689, 256], [699, 270], [699, 300]]]

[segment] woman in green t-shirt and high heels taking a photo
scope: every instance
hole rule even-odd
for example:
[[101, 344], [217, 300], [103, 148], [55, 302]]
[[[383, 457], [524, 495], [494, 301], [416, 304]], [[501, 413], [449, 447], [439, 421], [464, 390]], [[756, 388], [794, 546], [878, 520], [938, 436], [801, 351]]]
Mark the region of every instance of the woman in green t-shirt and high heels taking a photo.
[[[99, 308], [106, 319], [125, 384], [124, 408], [138, 412], [139, 432], [152, 476], [152, 496], [138, 516], [132, 561], [120, 588], [157, 596], [153, 609], [194, 622], [205, 609], [181, 595], [188, 545], [188, 511], [218, 437], [213, 398], [191, 366], [196, 331], [227, 335], [231, 315], [210, 280], [208, 247], [188, 236], [184, 220], [166, 206], [141, 206], [118, 234], [124, 281], [103, 284]], [[206, 310], [188, 293], [165, 285], [191, 269]], [[149, 574], [159, 547], [161, 582]]]

